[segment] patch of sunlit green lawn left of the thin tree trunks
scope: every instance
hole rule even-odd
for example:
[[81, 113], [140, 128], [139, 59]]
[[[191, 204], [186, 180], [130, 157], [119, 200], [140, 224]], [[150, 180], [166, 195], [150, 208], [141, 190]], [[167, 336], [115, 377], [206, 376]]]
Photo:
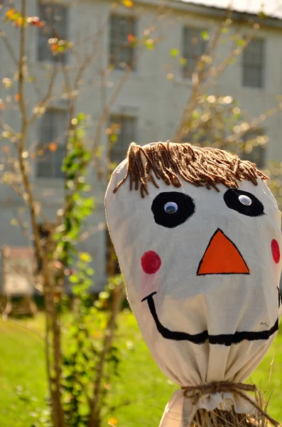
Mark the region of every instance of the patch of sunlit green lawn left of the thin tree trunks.
[[43, 340], [23, 327], [0, 322], [0, 426], [31, 427], [30, 413], [45, 407]]

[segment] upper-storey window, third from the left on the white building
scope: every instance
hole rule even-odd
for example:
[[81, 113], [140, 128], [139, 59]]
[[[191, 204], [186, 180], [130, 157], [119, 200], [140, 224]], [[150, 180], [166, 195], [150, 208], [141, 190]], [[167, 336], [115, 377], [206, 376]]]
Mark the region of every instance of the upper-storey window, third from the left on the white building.
[[185, 27], [183, 29], [183, 58], [186, 60], [185, 65], [183, 65], [184, 78], [192, 77], [197, 60], [207, 49], [207, 41], [202, 38], [203, 31], [200, 28]]

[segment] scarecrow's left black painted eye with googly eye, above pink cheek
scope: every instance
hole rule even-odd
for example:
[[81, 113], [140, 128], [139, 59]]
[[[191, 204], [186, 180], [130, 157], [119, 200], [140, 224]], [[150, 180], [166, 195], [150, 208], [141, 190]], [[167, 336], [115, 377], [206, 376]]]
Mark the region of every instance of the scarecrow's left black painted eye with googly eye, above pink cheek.
[[152, 212], [159, 226], [174, 228], [185, 223], [195, 212], [195, 203], [187, 194], [178, 191], [160, 193], [153, 199]]

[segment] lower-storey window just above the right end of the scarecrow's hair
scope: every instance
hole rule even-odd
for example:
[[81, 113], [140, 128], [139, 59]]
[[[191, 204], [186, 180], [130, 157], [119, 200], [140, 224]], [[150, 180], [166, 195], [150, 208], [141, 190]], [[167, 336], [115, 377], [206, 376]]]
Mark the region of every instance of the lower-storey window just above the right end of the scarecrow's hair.
[[262, 130], [246, 132], [243, 137], [243, 150], [239, 156], [243, 160], [256, 163], [259, 168], [264, 167], [266, 162], [266, 141], [267, 137]]

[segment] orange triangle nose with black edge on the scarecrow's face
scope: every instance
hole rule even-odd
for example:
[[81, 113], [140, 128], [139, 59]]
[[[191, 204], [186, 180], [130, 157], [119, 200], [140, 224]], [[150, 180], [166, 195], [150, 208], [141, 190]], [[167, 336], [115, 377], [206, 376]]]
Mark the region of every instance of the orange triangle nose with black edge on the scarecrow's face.
[[210, 239], [197, 275], [206, 274], [249, 274], [249, 268], [234, 243], [217, 230]]

